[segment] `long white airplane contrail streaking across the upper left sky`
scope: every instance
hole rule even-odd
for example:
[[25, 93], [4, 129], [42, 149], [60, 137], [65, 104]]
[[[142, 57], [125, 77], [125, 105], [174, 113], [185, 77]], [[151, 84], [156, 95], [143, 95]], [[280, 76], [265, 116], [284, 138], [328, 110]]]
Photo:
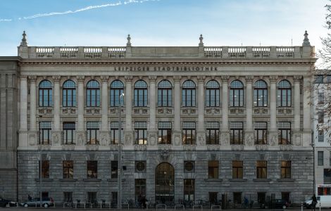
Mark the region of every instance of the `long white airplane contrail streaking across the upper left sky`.
[[[29, 20], [29, 19], [41, 18], [41, 17], [51, 16], [51, 15], [66, 15], [66, 14], [70, 14], [70, 13], [80, 13], [82, 11], [88, 11], [88, 10], [95, 9], [95, 8], [104, 8], [104, 7], [108, 7], [108, 6], [120, 6], [120, 5], [123, 5], [123, 4], [126, 5], [126, 4], [132, 4], [132, 3], [144, 3], [146, 1], [161, 1], [161, 0], [125, 0], [123, 2], [118, 1], [118, 2], [112, 3], [112, 4], [101, 4], [101, 5], [87, 6], [85, 8], [79, 8], [75, 11], [39, 13], [39, 14], [35, 14], [35, 15], [30, 15], [30, 16], [18, 18], [17, 20]], [[9, 21], [13, 21], [13, 19], [0, 19], [0, 22], [9, 22]]]

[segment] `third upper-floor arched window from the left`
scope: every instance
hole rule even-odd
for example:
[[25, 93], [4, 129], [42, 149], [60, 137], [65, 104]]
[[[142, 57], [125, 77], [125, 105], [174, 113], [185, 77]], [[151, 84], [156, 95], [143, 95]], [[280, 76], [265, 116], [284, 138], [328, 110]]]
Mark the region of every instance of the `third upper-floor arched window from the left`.
[[96, 80], [90, 80], [86, 87], [86, 106], [100, 106], [100, 84]]

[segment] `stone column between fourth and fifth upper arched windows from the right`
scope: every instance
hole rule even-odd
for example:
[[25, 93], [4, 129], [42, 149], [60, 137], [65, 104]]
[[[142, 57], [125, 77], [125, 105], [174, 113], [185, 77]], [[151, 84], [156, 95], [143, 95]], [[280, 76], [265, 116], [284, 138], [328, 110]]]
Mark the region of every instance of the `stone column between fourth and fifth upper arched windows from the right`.
[[206, 146], [206, 132], [204, 130], [204, 76], [198, 76], [198, 130], [197, 140], [198, 146]]

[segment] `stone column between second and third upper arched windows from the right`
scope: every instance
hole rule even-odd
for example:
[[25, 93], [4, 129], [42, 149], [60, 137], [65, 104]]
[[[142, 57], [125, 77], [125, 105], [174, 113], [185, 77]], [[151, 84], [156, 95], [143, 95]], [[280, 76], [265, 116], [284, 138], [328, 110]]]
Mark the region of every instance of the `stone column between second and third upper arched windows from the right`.
[[253, 82], [252, 76], [246, 76], [246, 131], [245, 131], [245, 144], [252, 146], [254, 143], [254, 131], [252, 122], [252, 89], [251, 83]]

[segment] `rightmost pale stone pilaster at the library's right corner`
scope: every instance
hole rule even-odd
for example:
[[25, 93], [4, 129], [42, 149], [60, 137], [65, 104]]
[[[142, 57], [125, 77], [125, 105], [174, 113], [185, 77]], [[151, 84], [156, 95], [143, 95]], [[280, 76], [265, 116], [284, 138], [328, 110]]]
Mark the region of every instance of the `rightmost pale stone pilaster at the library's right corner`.
[[309, 76], [304, 77], [304, 132], [302, 146], [310, 146], [311, 143], [311, 121], [312, 121], [312, 112], [311, 112], [311, 78]]

